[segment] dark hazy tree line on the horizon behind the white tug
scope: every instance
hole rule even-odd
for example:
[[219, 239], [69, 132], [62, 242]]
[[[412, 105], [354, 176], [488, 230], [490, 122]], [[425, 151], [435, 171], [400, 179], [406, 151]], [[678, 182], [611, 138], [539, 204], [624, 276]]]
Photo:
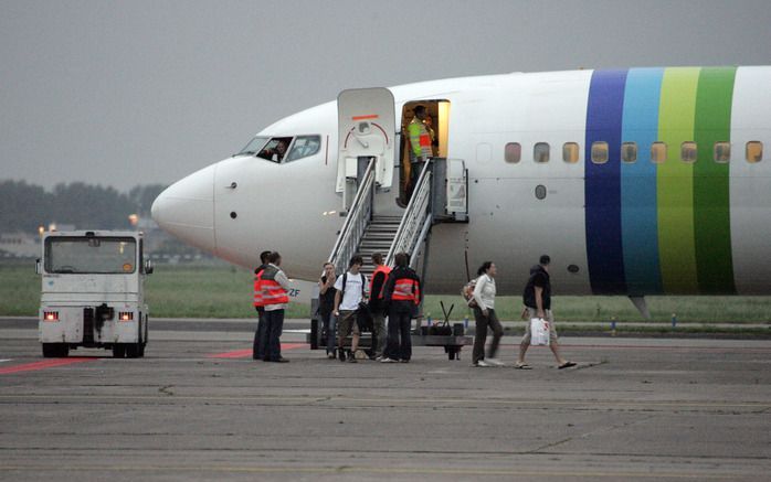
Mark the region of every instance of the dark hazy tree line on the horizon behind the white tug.
[[0, 181], [0, 232], [35, 232], [49, 224], [74, 224], [78, 229], [130, 228], [130, 214], [149, 217], [150, 206], [166, 189], [137, 185], [128, 193], [83, 182], [56, 184], [46, 191], [25, 181]]

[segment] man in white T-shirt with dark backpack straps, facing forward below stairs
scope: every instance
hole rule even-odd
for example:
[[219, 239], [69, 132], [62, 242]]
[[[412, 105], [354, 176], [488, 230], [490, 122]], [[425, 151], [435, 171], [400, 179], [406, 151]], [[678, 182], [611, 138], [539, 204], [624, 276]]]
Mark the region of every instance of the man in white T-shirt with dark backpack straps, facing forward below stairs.
[[350, 363], [356, 363], [356, 351], [359, 349], [359, 324], [356, 318], [359, 312], [360, 304], [365, 301], [367, 287], [367, 277], [359, 272], [361, 265], [365, 261], [361, 256], [353, 256], [348, 265], [348, 272], [340, 275], [335, 281], [335, 317], [337, 318], [338, 333], [338, 356], [340, 362], [346, 361], [346, 352], [342, 350], [342, 344], [346, 338], [353, 332], [351, 339], [351, 355], [348, 358]]

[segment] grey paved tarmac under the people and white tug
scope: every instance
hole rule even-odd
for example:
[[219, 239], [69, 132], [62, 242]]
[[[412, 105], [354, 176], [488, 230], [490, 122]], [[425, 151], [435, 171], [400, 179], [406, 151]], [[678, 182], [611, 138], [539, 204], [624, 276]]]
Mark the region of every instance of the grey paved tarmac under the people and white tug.
[[[558, 324], [559, 330], [559, 324]], [[0, 319], [0, 480], [771, 480], [771, 341], [562, 336], [579, 363], [251, 358], [253, 323], [154, 323], [146, 357], [42, 358]]]

